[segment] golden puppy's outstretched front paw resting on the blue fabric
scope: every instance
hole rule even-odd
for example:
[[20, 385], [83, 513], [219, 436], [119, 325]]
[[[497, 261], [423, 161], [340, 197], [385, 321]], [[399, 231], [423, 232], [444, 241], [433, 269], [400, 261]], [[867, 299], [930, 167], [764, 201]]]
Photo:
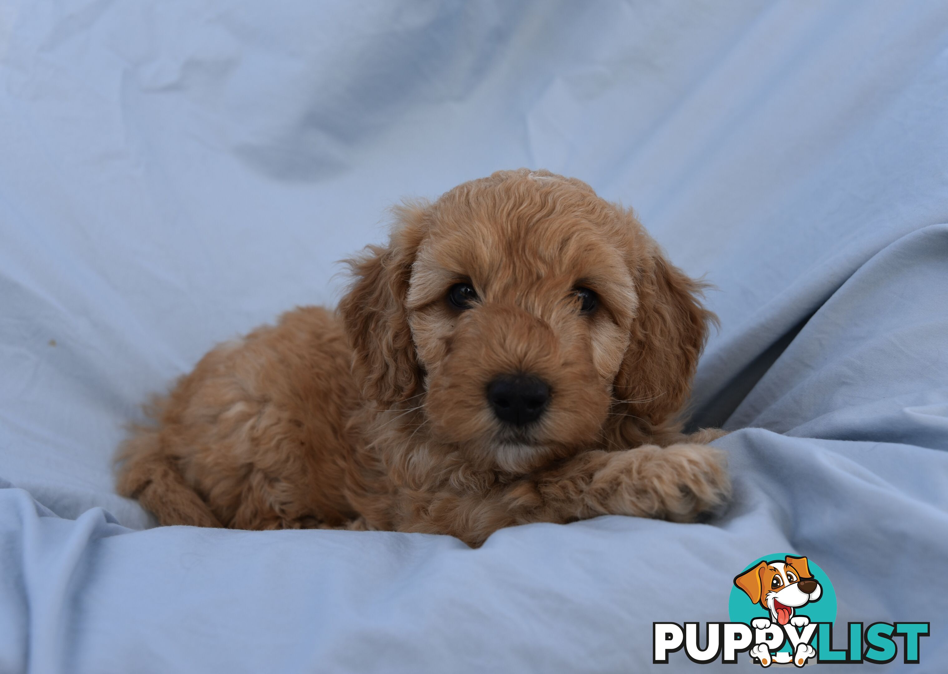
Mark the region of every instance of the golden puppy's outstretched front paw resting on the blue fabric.
[[593, 477], [592, 495], [616, 515], [690, 522], [731, 494], [727, 459], [706, 445], [645, 445], [614, 452]]

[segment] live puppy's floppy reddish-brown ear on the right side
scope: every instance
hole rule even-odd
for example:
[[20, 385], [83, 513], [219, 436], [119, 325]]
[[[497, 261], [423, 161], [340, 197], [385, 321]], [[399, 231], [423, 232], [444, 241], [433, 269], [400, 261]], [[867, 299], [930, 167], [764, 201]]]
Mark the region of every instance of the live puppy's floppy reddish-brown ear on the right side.
[[630, 413], [661, 427], [690, 393], [708, 325], [718, 319], [700, 301], [706, 284], [669, 264], [632, 213], [625, 215], [638, 249], [630, 264], [639, 304], [613, 387], [617, 400], [632, 401]]

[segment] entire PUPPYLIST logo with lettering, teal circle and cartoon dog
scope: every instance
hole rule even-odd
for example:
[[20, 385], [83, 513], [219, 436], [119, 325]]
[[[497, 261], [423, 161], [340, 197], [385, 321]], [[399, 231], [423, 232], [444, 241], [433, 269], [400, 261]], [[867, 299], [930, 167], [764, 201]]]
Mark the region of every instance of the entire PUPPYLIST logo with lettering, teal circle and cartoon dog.
[[[691, 662], [706, 665], [719, 657], [726, 665], [747, 652], [751, 662], [770, 665], [869, 663], [885, 665], [902, 647], [902, 662], [918, 664], [921, 622], [849, 623], [845, 648], [833, 648], [836, 592], [830, 578], [807, 557], [771, 555], [755, 559], [734, 578], [728, 602], [730, 622], [652, 623], [652, 663], [684, 650]], [[837, 642], [839, 637], [837, 636]], [[704, 647], [701, 647], [703, 641]]]

